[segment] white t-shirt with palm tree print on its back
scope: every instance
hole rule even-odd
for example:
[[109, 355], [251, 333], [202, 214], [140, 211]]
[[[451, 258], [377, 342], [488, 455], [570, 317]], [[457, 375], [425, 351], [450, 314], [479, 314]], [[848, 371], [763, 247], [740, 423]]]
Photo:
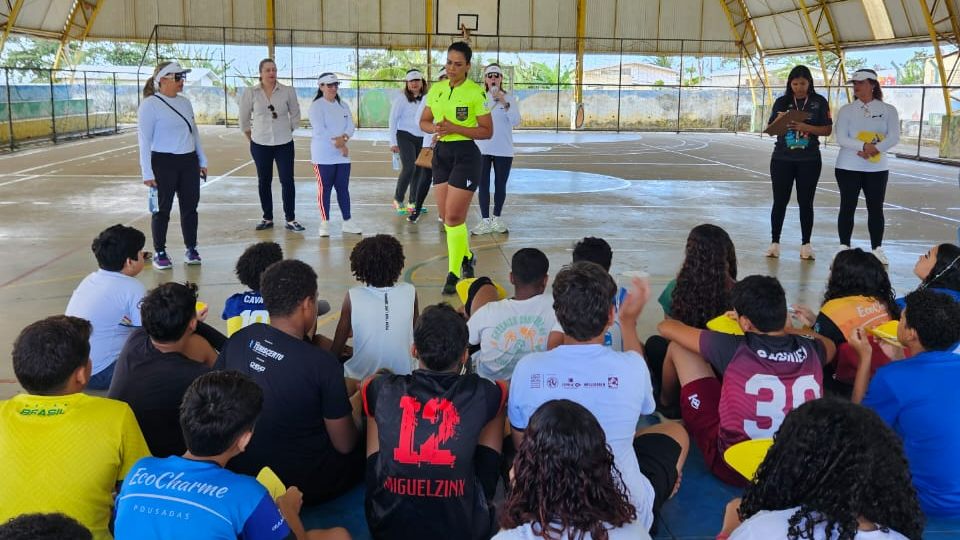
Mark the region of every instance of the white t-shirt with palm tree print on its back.
[[547, 350], [547, 338], [556, 322], [549, 294], [484, 305], [467, 321], [470, 344], [480, 345], [473, 355], [477, 374], [490, 380], [510, 380], [517, 361]]

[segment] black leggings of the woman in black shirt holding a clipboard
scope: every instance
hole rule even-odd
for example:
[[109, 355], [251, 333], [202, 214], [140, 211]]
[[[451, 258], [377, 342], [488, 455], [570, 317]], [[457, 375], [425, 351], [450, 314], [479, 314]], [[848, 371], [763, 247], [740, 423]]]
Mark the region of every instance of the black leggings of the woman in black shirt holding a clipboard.
[[793, 182], [797, 182], [797, 204], [800, 206], [800, 236], [802, 244], [810, 243], [813, 233], [813, 196], [820, 181], [819, 160], [785, 161], [770, 160], [770, 179], [773, 181], [773, 208], [770, 209], [770, 237], [780, 242], [783, 219], [787, 215], [787, 204], [793, 192]]

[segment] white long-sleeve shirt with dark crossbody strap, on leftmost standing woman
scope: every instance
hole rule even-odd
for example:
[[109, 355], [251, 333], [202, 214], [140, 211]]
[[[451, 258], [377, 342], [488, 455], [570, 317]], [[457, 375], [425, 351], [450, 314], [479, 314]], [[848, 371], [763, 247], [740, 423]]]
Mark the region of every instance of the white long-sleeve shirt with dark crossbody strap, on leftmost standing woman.
[[[183, 118], [163, 103], [169, 103]], [[187, 127], [187, 122], [190, 127]], [[140, 102], [137, 111], [137, 139], [140, 142], [140, 171], [143, 180], [155, 180], [153, 165], [150, 164], [151, 152], [168, 154], [189, 154], [196, 152], [200, 166], [207, 166], [207, 156], [200, 145], [200, 131], [193, 118], [193, 106], [190, 100], [177, 95], [175, 98], [154, 94]]]

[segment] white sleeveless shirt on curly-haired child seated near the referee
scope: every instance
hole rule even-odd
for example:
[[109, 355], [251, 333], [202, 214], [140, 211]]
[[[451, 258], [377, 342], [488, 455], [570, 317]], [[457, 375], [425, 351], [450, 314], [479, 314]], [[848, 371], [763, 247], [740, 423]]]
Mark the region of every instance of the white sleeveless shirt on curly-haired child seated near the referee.
[[353, 357], [343, 365], [344, 375], [363, 379], [382, 367], [397, 375], [412, 373], [414, 286], [351, 287], [349, 294]]

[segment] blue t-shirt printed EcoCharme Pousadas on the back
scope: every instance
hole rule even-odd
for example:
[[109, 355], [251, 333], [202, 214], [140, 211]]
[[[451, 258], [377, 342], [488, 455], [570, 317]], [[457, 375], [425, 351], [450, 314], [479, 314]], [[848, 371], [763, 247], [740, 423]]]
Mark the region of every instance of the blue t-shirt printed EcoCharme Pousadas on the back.
[[127, 473], [116, 504], [117, 540], [292, 537], [267, 488], [209, 461], [143, 458]]

